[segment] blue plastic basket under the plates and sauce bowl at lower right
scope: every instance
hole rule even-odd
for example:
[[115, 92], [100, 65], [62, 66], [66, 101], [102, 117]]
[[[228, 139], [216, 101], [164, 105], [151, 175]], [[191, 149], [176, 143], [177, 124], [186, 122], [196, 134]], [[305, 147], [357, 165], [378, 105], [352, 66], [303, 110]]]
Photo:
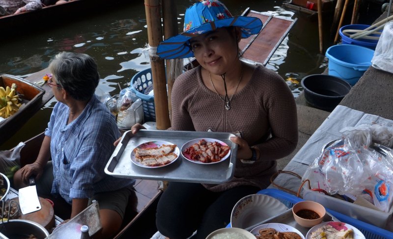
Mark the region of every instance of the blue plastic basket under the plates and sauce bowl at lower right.
[[[298, 198], [294, 195], [291, 195], [289, 193], [274, 188], [263, 189], [260, 190], [258, 193], [274, 197], [288, 208], [292, 208], [292, 206], [297, 202], [303, 201], [303, 199], [301, 198]], [[326, 209], [326, 210], [341, 222], [348, 223], [359, 229], [365, 235], [366, 239], [392, 239], [393, 238], [393, 232], [373, 226], [363, 221], [359, 221], [357, 219], [351, 218], [347, 215], [344, 215], [342, 213], [339, 213], [331, 209]]]

